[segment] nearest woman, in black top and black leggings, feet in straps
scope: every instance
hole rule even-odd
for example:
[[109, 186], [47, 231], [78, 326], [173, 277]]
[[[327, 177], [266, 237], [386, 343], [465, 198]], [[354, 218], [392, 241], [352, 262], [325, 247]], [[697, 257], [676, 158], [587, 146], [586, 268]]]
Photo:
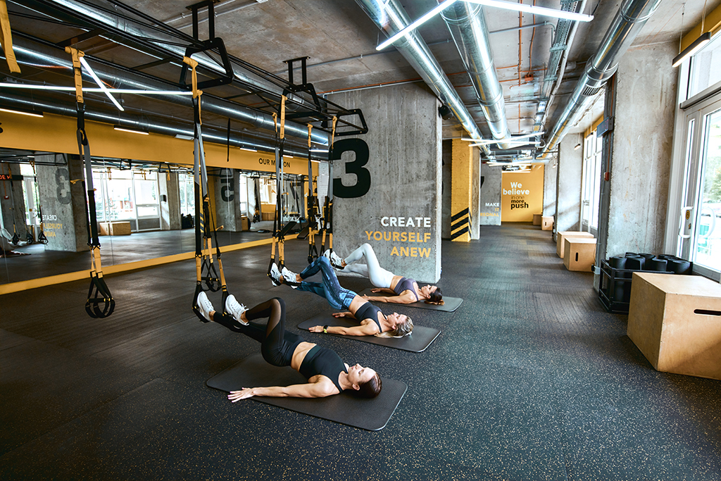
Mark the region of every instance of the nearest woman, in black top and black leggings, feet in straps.
[[[228, 296], [226, 311], [231, 313], [229, 315], [213, 309], [208, 296], [201, 292], [198, 308], [205, 319], [260, 342], [260, 352], [267, 363], [291, 366], [308, 379], [307, 384], [286, 387], [244, 387], [230, 392], [228, 399], [232, 402], [253, 396], [327, 397], [345, 390], [354, 391], [360, 397], [376, 397], [381, 392], [381, 377], [373, 369], [360, 364], [348, 366], [334, 351], [306, 343], [293, 332], [286, 332], [286, 303], [279, 297], [245, 309], [235, 296]], [[249, 321], [265, 317], [268, 319], [265, 329], [249, 324]]]

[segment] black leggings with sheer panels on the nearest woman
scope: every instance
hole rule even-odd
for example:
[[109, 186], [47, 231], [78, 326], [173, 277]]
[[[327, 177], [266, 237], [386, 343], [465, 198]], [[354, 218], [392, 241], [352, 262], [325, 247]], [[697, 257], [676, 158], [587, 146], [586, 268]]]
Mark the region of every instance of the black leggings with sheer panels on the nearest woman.
[[244, 325], [234, 317], [218, 311], [213, 314], [213, 322], [257, 340], [260, 343], [260, 353], [267, 363], [273, 366], [290, 366], [293, 353], [304, 340], [293, 332], [286, 332], [286, 302], [280, 297], [274, 297], [248, 309], [245, 317], [249, 321], [267, 317], [268, 322], [265, 329], [262, 329], [257, 325]]

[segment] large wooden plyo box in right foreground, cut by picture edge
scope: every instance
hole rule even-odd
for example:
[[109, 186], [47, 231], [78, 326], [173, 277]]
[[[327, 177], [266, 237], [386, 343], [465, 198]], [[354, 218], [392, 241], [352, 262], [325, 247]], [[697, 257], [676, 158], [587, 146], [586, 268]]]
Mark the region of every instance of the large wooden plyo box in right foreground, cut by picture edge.
[[721, 286], [634, 273], [627, 334], [657, 371], [721, 380]]

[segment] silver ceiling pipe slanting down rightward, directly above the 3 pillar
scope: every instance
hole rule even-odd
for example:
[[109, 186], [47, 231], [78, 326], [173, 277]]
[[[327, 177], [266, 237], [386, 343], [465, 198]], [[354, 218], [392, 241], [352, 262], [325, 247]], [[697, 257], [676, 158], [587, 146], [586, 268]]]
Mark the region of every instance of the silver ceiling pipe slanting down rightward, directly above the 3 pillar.
[[[410, 25], [410, 19], [398, 0], [355, 0], [368, 17], [378, 25], [389, 37], [403, 30]], [[401, 53], [415, 71], [423, 77], [423, 80], [441, 102], [448, 105], [454, 112], [461, 125], [466, 129], [471, 138], [482, 140], [483, 136], [478, 126], [473, 121], [471, 114], [466, 110], [461, 98], [453, 88], [451, 81], [443, 73], [443, 69], [430, 53], [428, 45], [417, 32], [409, 32], [393, 43], [393, 46]], [[481, 146], [485, 154], [490, 154], [487, 146]]]

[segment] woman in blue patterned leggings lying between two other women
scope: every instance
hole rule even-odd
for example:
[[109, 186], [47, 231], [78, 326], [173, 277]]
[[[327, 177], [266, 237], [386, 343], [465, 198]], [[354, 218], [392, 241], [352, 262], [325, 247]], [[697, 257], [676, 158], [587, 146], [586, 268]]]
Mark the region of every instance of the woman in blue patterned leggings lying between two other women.
[[[322, 283], [304, 281], [319, 272], [323, 278]], [[300, 274], [292, 273], [288, 268], [283, 268], [281, 273], [278, 271], [278, 266], [273, 264], [270, 268], [270, 275], [273, 275], [278, 283], [289, 283], [299, 291], [314, 292], [324, 297], [334, 309], [348, 309], [348, 312], [335, 312], [333, 317], [350, 317], [361, 322], [361, 325], [353, 327], [314, 326], [309, 329], [310, 332], [349, 336], [403, 337], [409, 335], [413, 330], [413, 321], [410, 317], [396, 312], [386, 316], [368, 299], [363, 299], [355, 292], [342, 288], [326, 257], [318, 257], [313, 260]]]

